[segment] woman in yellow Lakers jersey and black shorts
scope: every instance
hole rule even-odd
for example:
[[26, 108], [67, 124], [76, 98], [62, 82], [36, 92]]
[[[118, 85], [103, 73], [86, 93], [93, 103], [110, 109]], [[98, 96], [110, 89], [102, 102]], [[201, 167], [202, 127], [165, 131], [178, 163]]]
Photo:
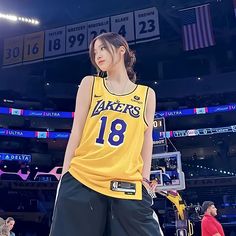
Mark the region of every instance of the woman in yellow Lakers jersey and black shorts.
[[148, 194], [155, 93], [135, 84], [122, 36], [96, 37], [90, 59], [107, 77], [80, 84], [50, 235], [163, 235]]

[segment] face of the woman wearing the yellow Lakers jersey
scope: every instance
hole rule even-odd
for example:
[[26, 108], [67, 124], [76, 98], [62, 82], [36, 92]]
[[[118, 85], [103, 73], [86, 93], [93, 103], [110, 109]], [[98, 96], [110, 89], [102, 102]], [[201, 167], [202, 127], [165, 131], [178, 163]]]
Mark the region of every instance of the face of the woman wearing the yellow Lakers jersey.
[[[111, 70], [112, 66], [119, 63], [121, 60], [120, 49], [116, 49], [110, 44], [108, 44], [108, 47], [110, 48], [108, 49], [100, 39], [97, 39], [94, 43], [94, 59], [101, 71]], [[113, 54], [110, 52], [113, 52]]]

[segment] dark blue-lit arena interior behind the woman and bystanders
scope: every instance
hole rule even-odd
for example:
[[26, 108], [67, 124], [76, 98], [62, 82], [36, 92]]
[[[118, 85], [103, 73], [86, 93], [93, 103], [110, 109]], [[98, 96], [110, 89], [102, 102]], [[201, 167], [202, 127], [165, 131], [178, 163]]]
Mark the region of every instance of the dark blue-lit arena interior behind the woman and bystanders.
[[210, 200], [236, 235], [235, 12], [233, 0], [0, 0], [0, 217], [15, 219], [16, 236], [49, 235], [76, 92], [96, 72], [88, 45], [108, 31], [127, 39], [138, 83], [156, 91], [151, 177], [164, 234], [200, 236]]

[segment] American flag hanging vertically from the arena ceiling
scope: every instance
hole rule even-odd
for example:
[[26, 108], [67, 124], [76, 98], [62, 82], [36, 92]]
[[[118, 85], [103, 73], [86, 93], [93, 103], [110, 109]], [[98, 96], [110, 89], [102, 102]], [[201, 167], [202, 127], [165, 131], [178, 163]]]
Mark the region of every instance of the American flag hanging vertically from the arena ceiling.
[[209, 4], [180, 10], [180, 14], [185, 51], [215, 44]]

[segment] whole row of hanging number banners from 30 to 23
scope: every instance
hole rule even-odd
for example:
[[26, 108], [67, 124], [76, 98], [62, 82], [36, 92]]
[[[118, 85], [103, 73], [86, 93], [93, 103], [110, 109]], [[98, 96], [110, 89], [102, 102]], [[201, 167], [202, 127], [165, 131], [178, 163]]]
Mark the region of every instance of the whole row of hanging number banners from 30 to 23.
[[3, 66], [87, 53], [92, 39], [110, 31], [121, 34], [130, 44], [157, 40], [158, 11], [151, 7], [5, 39]]

